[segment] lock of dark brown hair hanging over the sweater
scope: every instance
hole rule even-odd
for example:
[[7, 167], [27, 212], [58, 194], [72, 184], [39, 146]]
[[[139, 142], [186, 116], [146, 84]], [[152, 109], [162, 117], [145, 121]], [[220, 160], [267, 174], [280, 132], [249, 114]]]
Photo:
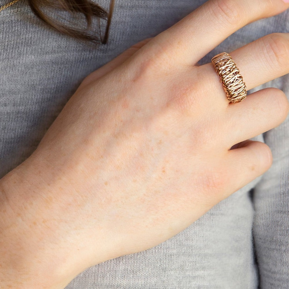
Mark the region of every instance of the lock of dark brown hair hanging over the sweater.
[[[44, 21], [47, 25], [51, 26], [53, 29], [59, 31], [62, 34], [67, 34], [69, 36], [89, 40], [94, 43], [106, 44], [108, 40], [108, 32], [110, 27], [110, 22], [112, 18], [112, 11], [114, 8], [114, 0], [110, 1], [110, 10], [106, 12], [98, 4], [91, 2], [90, 0], [28, 0], [28, 4], [32, 12]], [[85, 16], [87, 22], [87, 28], [91, 26], [92, 16], [96, 16], [98, 20], [99, 31], [96, 34], [88, 34], [78, 29], [72, 29], [69, 26], [63, 25], [59, 21], [49, 18], [47, 14], [43, 13], [40, 6], [47, 8], [59, 8], [66, 10], [68, 12], [80, 12]], [[104, 19], [106, 21], [105, 35], [101, 36], [100, 20]], [[86, 28], [86, 29], [87, 29]]]

